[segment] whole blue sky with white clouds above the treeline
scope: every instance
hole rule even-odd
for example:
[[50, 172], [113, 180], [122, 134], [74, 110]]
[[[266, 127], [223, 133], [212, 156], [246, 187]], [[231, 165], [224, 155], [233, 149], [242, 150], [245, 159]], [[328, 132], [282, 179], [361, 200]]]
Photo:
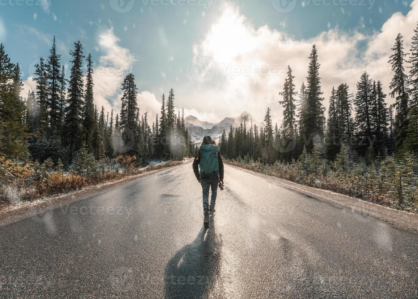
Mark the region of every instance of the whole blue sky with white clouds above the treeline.
[[[0, 41], [13, 62], [20, 63], [23, 79], [34, 87], [30, 80], [33, 65], [39, 57], [48, 56], [52, 36], [59, 42], [64, 64], [69, 63], [72, 44], [80, 40], [84, 53], [91, 52], [95, 66], [103, 72], [97, 75], [95, 93], [97, 104], [107, 109], [117, 110], [119, 105], [119, 88], [111, 88], [110, 82], [119, 84], [123, 77], [119, 72], [132, 71], [143, 92], [139, 103], [151, 115], [158, 111], [161, 94], [172, 87], [178, 108], [184, 106], [187, 113], [208, 121], [243, 110], [262, 119], [267, 106], [280, 121], [277, 102], [282, 71], [276, 69], [276, 80], [260, 76], [259, 71], [243, 75], [243, 66], [292, 64], [300, 84], [306, 76], [309, 48], [318, 43], [324, 97], [329, 97], [331, 85], [345, 81], [354, 92], [355, 75], [344, 78], [347, 70], [357, 72], [349, 62], [358, 58], [361, 68], [362, 59], [366, 64], [373, 59], [371, 64], [379, 69], [372, 70], [376, 80], [387, 82], [390, 70], [383, 64], [388, 53], [379, 50], [381, 43], [393, 44], [397, 31], [411, 36], [418, 20], [410, 20], [415, 16], [411, 0], [293, 0], [290, 5], [295, 8], [288, 13], [275, 9], [279, 0], [183, 0], [186, 5], [180, 6], [181, 1], [165, 5], [170, 2], [0, 0]], [[385, 28], [385, 23], [391, 28]], [[344, 52], [347, 47], [352, 51]], [[329, 59], [330, 55], [337, 58]], [[193, 80], [190, 69], [200, 57], [213, 59], [214, 80]], [[231, 66], [237, 67], [236, 75], [230, 73]], [[116, 69], [116, 74], [109, 69]], [[333, 82], [335, 77], [338, 80]]]

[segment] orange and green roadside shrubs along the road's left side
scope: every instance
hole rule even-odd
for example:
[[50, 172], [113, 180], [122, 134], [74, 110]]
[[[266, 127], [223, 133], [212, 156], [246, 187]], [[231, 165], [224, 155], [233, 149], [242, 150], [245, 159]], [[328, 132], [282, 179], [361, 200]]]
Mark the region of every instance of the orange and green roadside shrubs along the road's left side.
[[64, 171], [59, 161], [56, 166], [51, 158], [38, 162], [6, 160], [0, 157], [0, 208], [18, 202], [33, 201], [44, 196], [54, 196], [77, 191], [130, 175], [180, 165], [181, 161], [161, 162], [141, 167], [137, 157], [120, 155], [109, 164], [97, 162], [82, 147], [74, 157], [69, 171]]

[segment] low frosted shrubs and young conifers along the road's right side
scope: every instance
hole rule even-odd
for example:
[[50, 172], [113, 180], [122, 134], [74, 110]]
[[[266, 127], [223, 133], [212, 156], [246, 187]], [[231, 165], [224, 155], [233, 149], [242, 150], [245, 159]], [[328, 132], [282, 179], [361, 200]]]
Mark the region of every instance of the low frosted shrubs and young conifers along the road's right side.
[[321, 158], [316, 146], [311, 154], [303, 149], [298, 160], [269, 165], [244, 159], [224, 162], [295, 183], [341, 193], [394, 209], [418, 213], [418, 158], [406, 153], [400, 159], [356, 157], [342, 146], [334, 162]]

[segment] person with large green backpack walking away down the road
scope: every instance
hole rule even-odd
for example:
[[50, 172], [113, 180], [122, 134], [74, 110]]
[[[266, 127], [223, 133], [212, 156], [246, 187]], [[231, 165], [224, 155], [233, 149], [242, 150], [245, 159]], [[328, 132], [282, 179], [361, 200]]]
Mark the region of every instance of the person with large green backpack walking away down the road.
[[[200, 166], [200, 172], [199, 172]], [[199, 152], [193, 161], [193, 172], [202, 186], [204, 224], [209, 224], [209, 214], [215, 213], [216, 195], [218, 183], [224, 182], [224, 163], [216, 142], [210, 137], [203, 138]], [[209, 206], [209, 188], [212, 196]]]

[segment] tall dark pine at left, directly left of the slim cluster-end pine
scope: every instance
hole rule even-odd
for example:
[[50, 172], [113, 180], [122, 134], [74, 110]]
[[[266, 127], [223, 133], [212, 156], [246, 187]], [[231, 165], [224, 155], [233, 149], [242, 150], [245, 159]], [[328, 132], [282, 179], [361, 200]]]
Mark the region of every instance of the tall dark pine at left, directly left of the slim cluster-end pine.
[[84, 82], [83, 82], [83, 47], [80, 41], [74, 43], [74, 51], [70, 51], [71, 75], [68, 84], [68, 98], [66, 107], [66, 144], [69, 147], [70, 160], [75, 152], [80, 149], [83, 140], [82, 116], [84, 106]]

